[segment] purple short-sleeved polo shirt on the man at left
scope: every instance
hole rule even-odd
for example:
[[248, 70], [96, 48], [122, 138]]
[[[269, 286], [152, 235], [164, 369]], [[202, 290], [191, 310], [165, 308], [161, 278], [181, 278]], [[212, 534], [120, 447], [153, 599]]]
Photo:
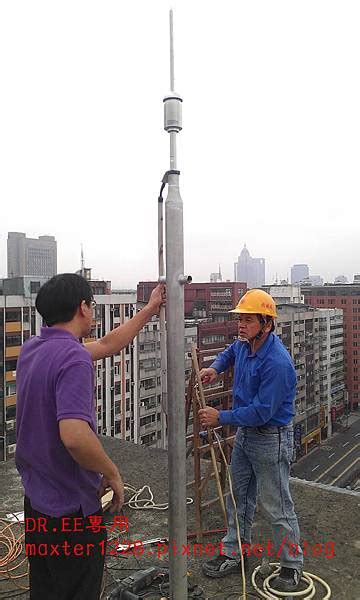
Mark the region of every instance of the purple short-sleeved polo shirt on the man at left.
[[42, 327], [21, 349], [16, 387], [16, 466], [32, 507], [53, 517], [96, 512], [101, 476], [78, 465], [59, 433], [61, 419], [81, 419], [96, 433], [89, 352], [68, 331]]

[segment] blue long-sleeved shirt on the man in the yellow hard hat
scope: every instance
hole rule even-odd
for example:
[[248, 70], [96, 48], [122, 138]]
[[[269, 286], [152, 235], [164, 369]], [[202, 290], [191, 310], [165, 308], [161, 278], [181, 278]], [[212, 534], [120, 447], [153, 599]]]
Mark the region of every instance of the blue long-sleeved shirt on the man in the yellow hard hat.
[[221, 425], [287, 425], [295, 414], [296, 373], [290, 354], [270, 333], [254, 354], [236, 340], [211, 367], [218, 373], [234, 366], [233, 408], [219, 411]]

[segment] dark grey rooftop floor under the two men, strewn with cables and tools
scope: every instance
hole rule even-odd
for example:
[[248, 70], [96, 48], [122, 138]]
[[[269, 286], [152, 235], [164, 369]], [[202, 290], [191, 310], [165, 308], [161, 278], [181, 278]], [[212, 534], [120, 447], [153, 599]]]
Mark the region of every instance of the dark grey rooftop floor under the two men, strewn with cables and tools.
[[[167, 478], [167, 452], [164, 450], [138, 446], [131, 442], [102, 437], [100, 438], [106, 451], [113, 461], [118, 465], [126, 484], [136, 489], [149, 485], [154, 495], [154, 502], [162, 503], [168, 499]], [[193, 460], [187, 461], [188, 481], [193, 480]], [[0, 518], [4, 518], [9, 512], [22, 510], [23, 491], [20, 477], [16, 471], [13, 460], [0, 464]], [[213, 484], [211, 484], [213, 486]], [[214, 489], [214, 487], [213, 487]], [[360, 494], [348, 490], [330, 488], [321, 484], [305, 482], [299, 479], [291, 480], [291, 489], [299, 517], [301, 541], [306, 554], [304, 570], [325, 579], [331, 587], [334, 600], [360, 600]], [[188, 488], [188, 496], [193, 497], [193, 488]], [[214, 493], [210, 490], [211, 497]], [[126, 495], [126, 499], [128, 495]], [[147, 540], [156, 537], [168, 536], [168, 511], [160, 510], [135, 510], [128, 506], [124, 508], [124, 514], [128, 518], [129, 531], [121, 536], [123, 539]], [[188, 505], [188, 532], [195, 530], [194, 504]], [[219, 503], [213, 504], [204, 515], [205, 528], [213, 530], [223, 528], [223, 519]], [[1, 529], [4, 524], [1, 523]], [[19, 528], [20, 526], [16, 525]], [[206, 536], [205, 544], [218, 544], [221, 534]], [[253, 528], [253, 544], [263, 546], [271, 540], [271, 528], [264, 518], [261, 506], [255, 515]], [[306, 542], [306, 544], [305, 544]], [[225, 600], [227, 598], [239, 598], [242, 592], [241, 575], [233, 574], [223, 579], [211, 579], [205, 577], [201, 572], [201, 563], [208, 560], [206, 556], [194, 556], [194, 544], [196, 540], [189, 539], [190, 554], [188, 558], [188, 570], [190, 581], [199, 585], [204, 591], [204, 598], [216, 598]], [[316, 545], [316, 546], [315, 546]], [[148, 550], [151, 548], [151, 550]], [[134, 570], [144, 569], [152, 565], [167, 566], [168, 556], [156, 547], [146, 547], [143, 556], [136, 557], [134, 552], [126, 556], [117, 555], [107, 559], [106, 582], [103, 598], [106, 598], [114, 587], [116, 580], [131, 575]], [[152, 556], [150, 556], [150, 554]], [[199, 551], [197, 551], [199, 554]], [[315, 556], [319, 554], [318, 556]], [[4, 555], [4, 546], [0, 544], [1, 557]], [[20, 560], [20, 559], [18, 559]], [[260, 558], [251, 556], [250, 564], [256, 566]], [[0, 571], [4, 567], [0, 566]], [[19, 567], [19, 572], [22, 572]], [[13, 597], [28, 598], [27, 592], [22, 591], [17, 585], [26, 587], [27, 578], [9, 581], [0, 576], [0, 599]], [[153, 595], [146, 598], [166, 597], [163, 593], [152, 588]], [[258, 597], [250, 591], [251, 583], [248, 583], [249, 600]], [[315, 600], [325, 596], [323, 588], [317, 586]], [[85, 599], [84, 599], [85, 600]]]

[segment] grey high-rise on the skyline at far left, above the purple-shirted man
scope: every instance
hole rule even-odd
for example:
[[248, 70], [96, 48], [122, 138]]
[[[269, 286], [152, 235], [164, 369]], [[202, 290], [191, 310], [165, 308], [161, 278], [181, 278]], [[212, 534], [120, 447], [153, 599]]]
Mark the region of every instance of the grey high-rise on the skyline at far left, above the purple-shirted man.
[[8, 233], [7, 239], [8, 277], [36, 275], [53, 277], [57, 272], [56, 240], [52, 235], [41, 235], [37, 239], [27, 238], [25, 233]]

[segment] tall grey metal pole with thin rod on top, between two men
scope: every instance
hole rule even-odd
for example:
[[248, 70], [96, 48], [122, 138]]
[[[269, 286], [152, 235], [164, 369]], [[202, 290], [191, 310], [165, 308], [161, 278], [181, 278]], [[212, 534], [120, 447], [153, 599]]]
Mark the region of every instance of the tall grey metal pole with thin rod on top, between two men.
[[[176, 172], [176, 133], [181, 130], [181, 98], [174, 93], [173, 14], [170, 11], [170, 87], [165, 98], [165, 129], [170, 133], [170, 173], [165, 203], [167, 392], [169, 466], [170, 598], [186, 600], [187, 559], [179, 551], [187, 543], [184, 342], [183, 205]], [[175, 171], [175, 172], [174, 172]], [[172, 546], [175, 548], [175, 546]]]

